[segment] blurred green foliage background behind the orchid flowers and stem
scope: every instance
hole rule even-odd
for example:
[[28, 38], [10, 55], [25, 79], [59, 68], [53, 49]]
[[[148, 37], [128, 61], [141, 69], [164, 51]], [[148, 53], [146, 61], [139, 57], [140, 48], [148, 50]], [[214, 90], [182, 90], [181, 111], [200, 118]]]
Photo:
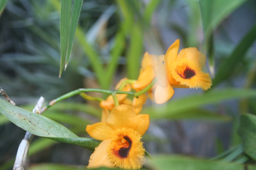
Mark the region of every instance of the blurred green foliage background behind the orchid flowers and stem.
[[[0, 17], [0, 86], [28, 110], [40, 96], [50, 101], [78, 88], [114, 89], [121, 78], [138, 77], [145, 51], [165, 54], [180, 39], [180, 49], [196, 47], [207, 55], [204, 71], [213, 85], [208, 92], [175, 89], [165, 105], [148, 101], [144, 147], [153, 157], [213, 158], [241, 143], [239, 115], [256, 114], [255, 9], [254, 0], [84, 0], [71, 58], [59, 78], [60, 1], [8, 0]], [[85, 127], [100, 114], [98, 103], [76, 96], [44, 115], [89, 137]], [[0, 169], [11, 169], [25, 131], [0, 116]], [[31, 164], [82, 166], [92, 153], [42, 137], [34, 137], [29, 152]], [[252, 161], [238, 153], [226, 161]]]

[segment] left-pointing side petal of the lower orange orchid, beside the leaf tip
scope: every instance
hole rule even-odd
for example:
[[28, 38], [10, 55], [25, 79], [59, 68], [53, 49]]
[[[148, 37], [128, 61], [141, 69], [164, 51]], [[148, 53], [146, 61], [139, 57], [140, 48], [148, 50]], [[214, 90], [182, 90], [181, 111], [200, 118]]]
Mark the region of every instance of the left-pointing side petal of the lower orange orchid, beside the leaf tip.
[[93, 125], [86, 126], [86, 132], [98, 140], [107, 140], [112, 137], [114, 130], [111, 129], [105, 122], [95, 123]]

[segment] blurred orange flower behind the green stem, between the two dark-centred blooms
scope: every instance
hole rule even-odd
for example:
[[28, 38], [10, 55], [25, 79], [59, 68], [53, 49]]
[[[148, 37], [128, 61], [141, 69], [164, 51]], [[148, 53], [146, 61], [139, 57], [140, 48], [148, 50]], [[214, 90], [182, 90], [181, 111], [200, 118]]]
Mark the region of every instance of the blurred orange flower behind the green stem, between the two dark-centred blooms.
[[[116, 90], [120, 87], [120, 85], [127, 80], [127, 78], [121, 79], [117, 85]], [[129, 92], [131, 91], [131, 85], [129, 83], [126, 83], [124, 88], [120, 89], [121, 91]], [[127, 104], [133, 107], [133, 110], [136, 114], [139, 114], [142, 106], [147, 100], [147, 95], [142, 94], [138, 98], [133, 97], [133, 99], [128, 99], [127, 94], [116, 94], [117, 100], [119, 104]], [[109, 112], [112, 110], [113, 107], [115, 107], [114, 99], [112, 95], [108, 96], [106, 100], [103, 100], [100, 102], [100, 107], [102, 107], [102, 116], [101, 116], [101, 122], [106, 122], [107, 116]]]

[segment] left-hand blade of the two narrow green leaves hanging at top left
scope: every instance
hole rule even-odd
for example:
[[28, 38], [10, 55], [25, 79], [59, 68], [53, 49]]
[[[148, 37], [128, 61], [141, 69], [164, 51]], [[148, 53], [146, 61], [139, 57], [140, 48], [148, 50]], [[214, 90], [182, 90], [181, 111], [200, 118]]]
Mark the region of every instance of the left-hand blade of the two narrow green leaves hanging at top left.
[[60, 1], [60, 75], [67, 59], [72, 1]]

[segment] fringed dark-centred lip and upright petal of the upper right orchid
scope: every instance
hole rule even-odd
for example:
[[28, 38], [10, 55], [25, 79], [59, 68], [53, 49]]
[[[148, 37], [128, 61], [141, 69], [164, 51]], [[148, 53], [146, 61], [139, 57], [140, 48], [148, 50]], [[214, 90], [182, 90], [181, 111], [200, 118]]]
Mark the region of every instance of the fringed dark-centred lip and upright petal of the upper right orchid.
[[208, 90], [212, 85], [210, 74], [204, 73], [206, 57], [195, 47], [181, 49], [180, 40], [176, 40], [167, 50], [168, 81], [172, 87], [202, 88]]

